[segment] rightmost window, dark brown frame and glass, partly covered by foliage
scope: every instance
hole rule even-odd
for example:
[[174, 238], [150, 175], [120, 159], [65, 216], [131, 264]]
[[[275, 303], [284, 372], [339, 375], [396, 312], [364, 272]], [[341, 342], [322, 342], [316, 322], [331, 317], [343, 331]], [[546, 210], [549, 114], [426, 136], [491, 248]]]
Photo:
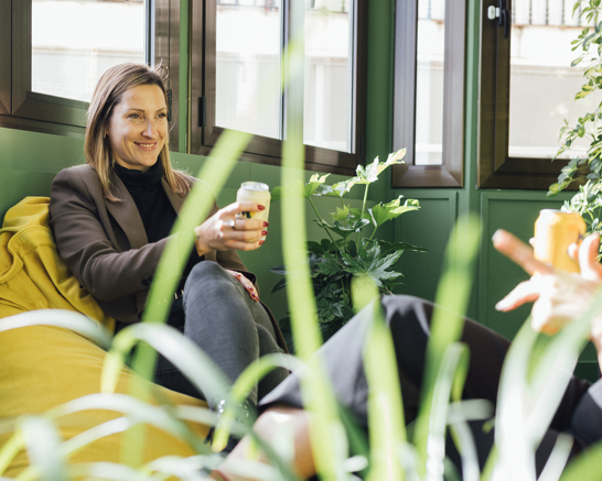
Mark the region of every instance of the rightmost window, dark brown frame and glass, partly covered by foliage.
[[[491, 6], [490, 6], [491, 3]], [[576, 102], [581, 68], [571, 67], [578, 52], [571, 42], [582, 31], [573, 1], [512, 0], [505, 2], [512, 19], [506, 36], [495, 18], [497, 2], [483, 4], [480, 94], [479, 186], [547, 189], [569, 157], [585, 152], [579, 139], [558, 161], [565, 119], [598, 108], [589, 96]]]

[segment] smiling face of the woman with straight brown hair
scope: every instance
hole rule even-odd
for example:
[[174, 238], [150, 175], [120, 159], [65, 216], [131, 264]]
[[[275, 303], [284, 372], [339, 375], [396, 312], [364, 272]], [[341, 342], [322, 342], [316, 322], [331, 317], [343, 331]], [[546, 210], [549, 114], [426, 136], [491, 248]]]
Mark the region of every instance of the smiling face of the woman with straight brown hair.
[[139, 85], [121, 95], [108, 132], [115, 162], [147, 172], [157, 163], [168, 139], [168, 107], [157, 85]]

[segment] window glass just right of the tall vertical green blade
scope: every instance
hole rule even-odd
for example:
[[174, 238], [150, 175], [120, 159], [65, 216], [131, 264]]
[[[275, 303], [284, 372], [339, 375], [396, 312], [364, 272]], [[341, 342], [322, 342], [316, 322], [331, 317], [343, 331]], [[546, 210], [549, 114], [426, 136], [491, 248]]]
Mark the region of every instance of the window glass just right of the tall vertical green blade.
[[352, 151], [353, 0], [315, 0], [305, 12], [303, 142]]

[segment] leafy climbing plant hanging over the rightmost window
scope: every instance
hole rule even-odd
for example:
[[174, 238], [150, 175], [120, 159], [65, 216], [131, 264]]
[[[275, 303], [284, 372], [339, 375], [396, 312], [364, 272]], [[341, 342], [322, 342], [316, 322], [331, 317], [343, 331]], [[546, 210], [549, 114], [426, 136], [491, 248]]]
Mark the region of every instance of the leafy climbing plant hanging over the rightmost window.
[[[583, 77], [585, 83], [574, 99], [585, 98], [592, 92], [602, 89], [602, 12], [601, 0], [578, 0], [573, 7], [574, 12], [581, 9], [580, 17], [584, 17], [588, 24], [577, 40], [571, 43], [572, 50], [580, 50], [580, 55], [571, 63], [571, 66], [585, 65]], [[593, 29], [593, 31], [592, 31]], [[579, 187], [579, 193], [566, 201], [562, 210], [580, 214], [588, 225], [588, 232], [602, 232], [602, 102], [593, 112], [588, 112], [579, 118], [576, 125], [569, 125], [565, 120], [565, 127], [560, 131], [562, 145], [558, 150], [555, 160], [562, 153], [570, 151], [578, 139], [587, 139], [590, 142], [585, 157], [571, 158], [558, 176], [558, 182], [549, 187], [548, 196], [555, 196], [567, 188], [573, 182], [584, 182]]]

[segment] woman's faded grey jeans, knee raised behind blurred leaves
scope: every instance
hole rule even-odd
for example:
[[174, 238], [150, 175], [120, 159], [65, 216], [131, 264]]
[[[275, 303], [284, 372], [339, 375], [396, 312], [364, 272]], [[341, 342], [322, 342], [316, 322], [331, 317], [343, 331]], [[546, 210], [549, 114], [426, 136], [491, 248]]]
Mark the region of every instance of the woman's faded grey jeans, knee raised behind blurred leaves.
[[[193, 267], [184, 285], [183, 303], [174, 303], [169, 324], [193, 340], [230, 382], [261, 356], [282, 352], [261, 303], [252, 300], [245, 287], [215, 262], [204, 261]], [[287, 370], [276, 369], [259, 381], [248, 401], [257, 404], [287, 375]], [[164, 358], [158, 361], [155, 381], [205, 398], [212, 407], [222, 401], [200, 393]]]

